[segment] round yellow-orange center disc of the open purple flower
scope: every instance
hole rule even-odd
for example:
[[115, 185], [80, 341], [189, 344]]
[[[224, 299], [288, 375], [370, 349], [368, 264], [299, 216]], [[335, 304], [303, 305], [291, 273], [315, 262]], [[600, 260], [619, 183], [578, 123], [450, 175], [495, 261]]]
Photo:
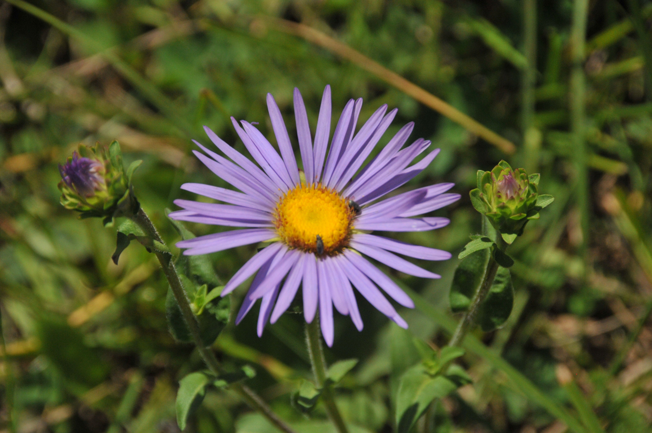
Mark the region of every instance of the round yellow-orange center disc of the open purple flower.
[[332, 256], [348, 244], [355, 211], [329, 188], [300, 185], [279, 200], [274, 217], [276, 232], [288, 246]]

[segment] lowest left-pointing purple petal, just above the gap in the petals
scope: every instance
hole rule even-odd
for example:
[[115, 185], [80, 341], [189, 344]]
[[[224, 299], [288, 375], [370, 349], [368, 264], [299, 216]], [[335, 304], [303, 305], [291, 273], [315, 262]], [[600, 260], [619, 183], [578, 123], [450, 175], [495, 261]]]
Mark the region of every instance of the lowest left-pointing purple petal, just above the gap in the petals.
[[273, 239], [276, 236], [273, 230], [267, 228], [248, 228], [186, 239], [185, 241], [177, 242], [177, 247], [190, 248], [189, 250], [185, 250], [183, 254], [185, 256], [194, 256], [196, 254], [208, 254], [209, 252], [228, 250], [234, 246], [269, 241], [269, 239]]

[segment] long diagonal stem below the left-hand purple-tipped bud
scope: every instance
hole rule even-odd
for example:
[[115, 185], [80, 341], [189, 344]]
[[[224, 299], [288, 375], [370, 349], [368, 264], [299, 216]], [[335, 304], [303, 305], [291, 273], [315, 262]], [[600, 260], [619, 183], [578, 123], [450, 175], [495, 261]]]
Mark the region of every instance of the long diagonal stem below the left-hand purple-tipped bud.
[[[132, 219], [134, 222], [136, 222], [136, 224], [138, 224], [138, 226], [140, 226], [141, 229], [143, 229], [143, 231], [145, 231], [147, 236], [165, 245], [160, 235], [158, 235], [156, 227], [154, 224], [152, 224], [151, 220], [149, 217], [147, 217], [147, 214], [145, 211], [143, 211], [143, 209], [140, 209], [138, 213], [132, 217]], [[215, 376], [218, 376], [220, 373], [222, 373], [222, 366], [220, 365], [220, 361], [218, 361], [215, 357], [215, 353], [213, 353], [211, 348], [207, 347], [201, 339], [199, 323], [194, 313], [190, 309], [190, 302], [188, 301], [186, 291], [183, 289], [183, 284], [181, 284], [181, 279], [179, 279], [179, 275], [177, 274], [177, 269], [174, 266], [172, 256], [162, 252], [155, 252], [155, 254], [158, 262], [163, 269], [163, 273], [168, 279], [168, 283], [170, 283], [172, 293], [177, 300], [177, 305], [179, 305], [179, 310], [181, 310], [181, 314], [183, 315], [183, 319], [185, 320], [186, 325], [190, 330], [190, 335], [192, 335], [192, 339], [197, 346], [197, 350], [199, 350], [200, 355], [208, 366], [209, 370], [211, 370]], [[241, 383], [231, 384], [230, 389], [238, 393], [243, 398], [243, 400], [249, 404], [249, 406], [255, 410], [258, 410], [265, 418], [267, 418], [267, 421], [276, 426], [278, 430], [285, 433], [295, 433], [295, 431], [292, 430], [292, 428], [290, 428], [290, 426], [287, 425], [285, 421], [280, 419], [276, 413], [274, 413], [272, 409], [267, 406], [267, 403], [265, 403], [265, 401], [260, 398], [260, 396], [254, 392], [254, 390]]]

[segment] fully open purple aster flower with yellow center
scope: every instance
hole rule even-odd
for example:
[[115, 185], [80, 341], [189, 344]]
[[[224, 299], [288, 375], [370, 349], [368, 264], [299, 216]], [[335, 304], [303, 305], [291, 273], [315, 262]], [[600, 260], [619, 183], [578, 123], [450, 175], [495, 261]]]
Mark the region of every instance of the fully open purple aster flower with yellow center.
[[205, 154], [194, 151], [195, 155], [213, 173], [241, 192], [186, 183], [181, 188], [229, 204], [176, 200], [175, 203], [185, 210], [170, 214], [177, 220], [246, 228], [188, 239], [177, 246], [188, 248], [184, 254], [192, 255], [270, 242], [231, 277], [222, 291], [222, 295], [226, 295], [256, 274], [236, 323], [258, 299], [262, 299], [259, 336], [267, 321], [274, 323], [288, 309], [299, 286], [303, 290], [306, 321], [310, 323], [319, 308], [321, 333], [329, 346], [333, 345], [333, 305], [341, 314], [351, 316], [357, 329], [363, 329], [353, 288], [399, 326], [408, 327], [382, 291], [409, 308], [414, 306], [412, 300], [363, 254], [393, 269], [423, 278], [439, 278], [439, 275], [394, 253], [421, 260], [447, 260], [451, 254], [365, 232], [426, 231], [449, 224], [447, 218], [413, 217], [458, 200], [459, 194], [444, 194], [452, 183], [418, 188], [379, 200], [421, 173], [439, 149], [410, 166], [430, 142], [420, 138], [403, 147], [414, 127], [413, 123], [408, 123], [363, 167], [364, 160], [393, 121], [396, 109], [387, 113], [387, 105], [381, 106], [356, 133], [362, 99], [349, 100], [329, 146], [331, 88], [327, 86], [323, 93], [314, 141], [301, 93], [295, 89], [294, 112], [302, 173], [280, 110], [270, 94], [267, 107], [280, 155], [265, 136], [246, 121], [238, 123], [231, 117], [233, 127], [258, 165], [205, 127], [211, 141], [230, 160], [198, 142], [195, 143]]

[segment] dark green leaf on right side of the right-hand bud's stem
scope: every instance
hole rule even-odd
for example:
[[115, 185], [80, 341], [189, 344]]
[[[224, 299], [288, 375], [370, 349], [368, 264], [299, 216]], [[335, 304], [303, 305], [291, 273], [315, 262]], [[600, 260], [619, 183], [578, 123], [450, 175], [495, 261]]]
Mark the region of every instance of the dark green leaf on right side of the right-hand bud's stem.
[[477, 322], [482, 331], [500, 327], [509, 318], [514, 306], [514, 288], [509, 269], [498, 267], [494, 284], [478, 310]]

